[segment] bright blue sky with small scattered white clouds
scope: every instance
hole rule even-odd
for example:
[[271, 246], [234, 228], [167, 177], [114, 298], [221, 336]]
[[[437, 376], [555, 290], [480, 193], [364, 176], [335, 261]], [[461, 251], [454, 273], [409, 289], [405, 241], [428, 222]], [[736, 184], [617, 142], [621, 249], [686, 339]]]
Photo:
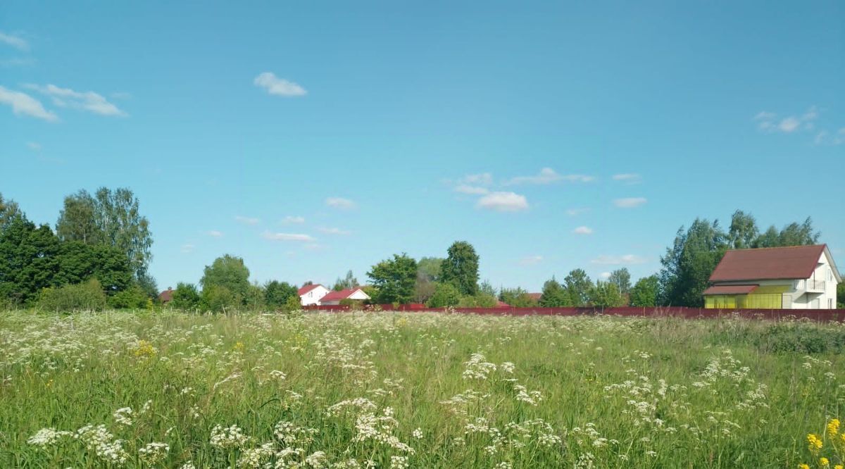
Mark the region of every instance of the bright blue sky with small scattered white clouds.
[[472, 243], [494, 286], [811, 215], [845, 264], [845, 3], [0, 5], [0, 192], [132, 188], [159, 286]]

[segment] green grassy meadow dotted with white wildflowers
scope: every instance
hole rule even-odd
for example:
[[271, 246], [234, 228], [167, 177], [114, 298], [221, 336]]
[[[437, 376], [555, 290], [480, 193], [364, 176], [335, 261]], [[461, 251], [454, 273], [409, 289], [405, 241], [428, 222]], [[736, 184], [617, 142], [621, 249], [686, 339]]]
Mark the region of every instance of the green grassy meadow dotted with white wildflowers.
[[802, 321], [6, 312], [0, 467], [833, 468], [843, 348]]

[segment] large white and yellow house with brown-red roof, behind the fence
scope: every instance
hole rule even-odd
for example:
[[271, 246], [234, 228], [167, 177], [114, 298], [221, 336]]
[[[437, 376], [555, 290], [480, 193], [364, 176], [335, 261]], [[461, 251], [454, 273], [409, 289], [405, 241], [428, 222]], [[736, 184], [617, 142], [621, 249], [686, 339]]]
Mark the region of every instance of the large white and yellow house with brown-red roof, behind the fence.
[[705, 308], [833, 309], [842, 276], [820, 244], [730, 250], [710, 281]]

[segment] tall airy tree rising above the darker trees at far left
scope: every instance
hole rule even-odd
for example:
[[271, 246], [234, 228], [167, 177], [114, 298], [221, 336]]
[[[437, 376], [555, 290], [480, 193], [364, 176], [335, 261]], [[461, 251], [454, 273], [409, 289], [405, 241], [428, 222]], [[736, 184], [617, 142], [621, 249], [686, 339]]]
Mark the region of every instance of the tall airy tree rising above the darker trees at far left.
[[150, 222], [140, 215], [139, 201], [128, 188], [99, 188], [93, 197], [85, 190], [69, 195], [56, 231], [62, 241], [106, 243], [120, 249], [136, 279], [146, 274], [152, 259]]

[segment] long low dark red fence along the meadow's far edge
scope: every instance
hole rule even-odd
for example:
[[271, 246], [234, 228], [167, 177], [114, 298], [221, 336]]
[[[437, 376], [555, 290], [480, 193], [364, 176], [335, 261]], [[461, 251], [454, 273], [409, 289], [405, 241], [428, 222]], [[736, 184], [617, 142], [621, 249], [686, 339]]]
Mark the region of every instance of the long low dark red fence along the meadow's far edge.
[[[811, 319], [815, 321], [845, 321], [845, 309], [705, 309], [684, 307], [651, 307], [651, 308], [427, 308], [422, 304], [403, 304], [394, 308], [390, 304], [365, 306], [364, 311], [454, 311], [464, 314], [502, 314], [510, 316], [580, 316], [609, 314], [614, 316], [674, 316], [679, 318], [723, 318], [739, 315], [750, 319]], [[307, 311], [341, 312], [352, 309], [349, 306], [325, 305], [308, 306]]]

